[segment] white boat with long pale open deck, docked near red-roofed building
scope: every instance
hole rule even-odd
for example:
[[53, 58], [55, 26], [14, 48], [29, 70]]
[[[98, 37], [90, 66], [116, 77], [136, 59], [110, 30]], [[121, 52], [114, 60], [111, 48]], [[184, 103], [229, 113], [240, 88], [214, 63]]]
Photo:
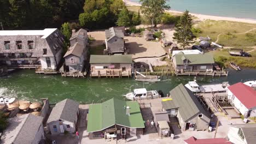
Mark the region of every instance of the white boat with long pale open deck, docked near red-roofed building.
[[228, 86], [230, 86], [228, 82], [199, 86], [196, 81], [189, 81], [189, 83], [185, 85], [185, 87], [194, 93], [226, 92]]

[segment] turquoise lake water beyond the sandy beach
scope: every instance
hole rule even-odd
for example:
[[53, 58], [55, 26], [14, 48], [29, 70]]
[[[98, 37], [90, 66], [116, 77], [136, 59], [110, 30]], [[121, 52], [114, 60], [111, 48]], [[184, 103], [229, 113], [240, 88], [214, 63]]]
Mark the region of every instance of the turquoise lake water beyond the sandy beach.
[[171, 10], [187, 9], [196, 14], [256, 19], [256, 0], [169, 0], [167, 3]]

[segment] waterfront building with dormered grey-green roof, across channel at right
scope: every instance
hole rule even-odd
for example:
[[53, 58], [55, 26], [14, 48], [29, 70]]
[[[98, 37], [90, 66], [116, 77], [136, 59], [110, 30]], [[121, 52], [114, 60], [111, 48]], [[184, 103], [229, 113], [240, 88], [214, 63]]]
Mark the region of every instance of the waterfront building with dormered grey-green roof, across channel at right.
[[213, 56], [209, 54], [185, 55], [181, 51], [172, 57], [172, 65], [176, 73], [212, 71], [214, 64]]

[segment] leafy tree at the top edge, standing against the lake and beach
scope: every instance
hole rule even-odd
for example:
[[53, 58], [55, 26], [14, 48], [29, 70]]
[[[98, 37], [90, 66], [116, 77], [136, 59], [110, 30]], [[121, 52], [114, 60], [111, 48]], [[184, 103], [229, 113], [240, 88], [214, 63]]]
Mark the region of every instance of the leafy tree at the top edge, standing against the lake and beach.
[[159, 23], [159, 19], [164, 11], [170, 9], [166, 4], [167, 0], [140, 0], [142, 13], [152, 20], [154, 27]]

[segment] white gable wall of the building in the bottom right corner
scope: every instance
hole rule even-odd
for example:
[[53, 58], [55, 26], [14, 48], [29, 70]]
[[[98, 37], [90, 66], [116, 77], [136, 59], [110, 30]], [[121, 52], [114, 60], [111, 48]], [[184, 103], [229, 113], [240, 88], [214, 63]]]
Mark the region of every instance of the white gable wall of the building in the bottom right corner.
[[247, 144], [246, 140], [242, 140], [240, 136], [238, 136], [237, 134], [238, 130], [239, 128], [235, 128], [235, 127], [229, 128], [229, 133], [228, 133], [229, 141], [236, 144]]

